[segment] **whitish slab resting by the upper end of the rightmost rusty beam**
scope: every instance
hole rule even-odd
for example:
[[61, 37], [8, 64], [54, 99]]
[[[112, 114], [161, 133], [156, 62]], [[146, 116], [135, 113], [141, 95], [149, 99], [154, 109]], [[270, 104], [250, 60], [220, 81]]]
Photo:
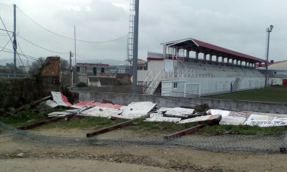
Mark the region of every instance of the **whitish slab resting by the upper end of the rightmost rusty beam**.
[[211, 124], [218, 122], [221, 119], [221, 115], [205, 115], [205, 116], [198, 116], [195, 118], [189, 118], [186, 120], [179, 121], [179, 124], [185, 123], [192, 123], [192, 122], [199, 122], [200, 124]]

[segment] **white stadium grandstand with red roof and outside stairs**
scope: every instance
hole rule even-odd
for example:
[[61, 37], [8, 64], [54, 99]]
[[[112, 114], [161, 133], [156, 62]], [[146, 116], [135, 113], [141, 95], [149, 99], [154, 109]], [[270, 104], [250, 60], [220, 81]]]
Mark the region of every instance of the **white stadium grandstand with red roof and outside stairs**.
[[148, 70], [138, 71], [144, 93], [194, 97], [264, 85], [265, 72], [255, 69], [263, 59], [193, 38], [161, 45], [162, 53], [148, 52]]

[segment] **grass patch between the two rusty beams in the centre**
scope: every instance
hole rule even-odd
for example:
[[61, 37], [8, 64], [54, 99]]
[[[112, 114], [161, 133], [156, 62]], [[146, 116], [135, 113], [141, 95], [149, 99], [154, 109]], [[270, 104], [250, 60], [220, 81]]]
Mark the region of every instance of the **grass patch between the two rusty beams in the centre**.
[[139, 118], [135, 121], [136, 124], [125, 127], [130, 130], [165, 130], [167, 132], [181, 131], [187, 128], [197, 126], [197, 123], [175, 124], [171, 122], [144, 122], [146, 118]]

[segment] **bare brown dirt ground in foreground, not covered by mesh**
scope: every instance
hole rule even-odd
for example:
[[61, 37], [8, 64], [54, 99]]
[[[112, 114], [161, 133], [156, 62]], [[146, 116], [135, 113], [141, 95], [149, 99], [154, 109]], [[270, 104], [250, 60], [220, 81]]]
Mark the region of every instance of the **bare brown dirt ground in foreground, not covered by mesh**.
[[[85, 129], [34, 129], [38, 134], [83, 136]], [[148, 132], [148, 131], [146, 131]], [[145, 133], [146, 133], [145, 132]], [[153, 134], [158, 134], [154, 133]], [[142, 135], [118, 129], [103, 134]], [[29, 145], [0, 138], [0, 171], [286, 171], [287, 154], [218, 153], [191, 148]], [[18, 157], [23, 153], [23, 157]]]

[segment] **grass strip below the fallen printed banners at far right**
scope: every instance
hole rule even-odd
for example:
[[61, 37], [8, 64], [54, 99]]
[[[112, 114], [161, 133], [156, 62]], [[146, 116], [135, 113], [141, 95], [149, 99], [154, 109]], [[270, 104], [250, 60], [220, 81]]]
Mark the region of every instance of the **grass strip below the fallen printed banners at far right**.
[[286, 131], [286, 126], [276, 127], [259, 127], [249, 125], [205, 125], [201, 132], [222, 134], [228, 132], [229, 134], [258, 134], [258, 133], [276, 133]]

